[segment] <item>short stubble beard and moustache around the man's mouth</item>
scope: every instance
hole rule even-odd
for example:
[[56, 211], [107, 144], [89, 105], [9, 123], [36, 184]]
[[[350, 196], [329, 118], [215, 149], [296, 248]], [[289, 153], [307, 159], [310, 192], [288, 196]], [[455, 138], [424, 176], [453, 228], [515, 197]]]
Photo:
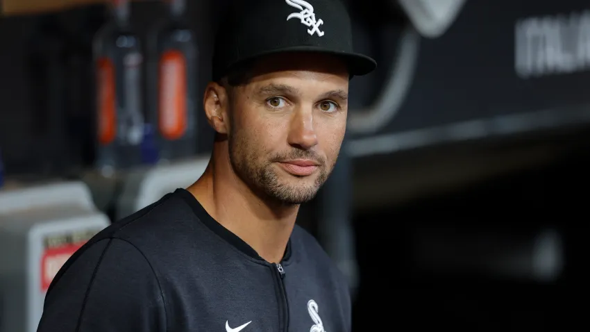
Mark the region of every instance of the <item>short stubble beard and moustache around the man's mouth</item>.
[[[232, 129], [235, 126], [232, 126]], [[232, 131], [228, 135], [228, 153], [230, 163], [234, 172], [239, 178], [248, 185], [255, 194], [261, 196], [264, 200], [270, 200], [281, 205], [298, 205], [307, 201], [311, 201], [316, 196], [317, 192], [328, 180], [328, 177], [334, 169], [334, 164], [326, 165], [326, 160], [317, 158], [317, 155], [312, 151], [305, 151], [293, 148], [289, 153], [271, 156], [270, 160], [266, 160], [264, 165], [259, 165], [260, 162], [255, 154], [255, 151], [248, 149], [248, 139], [240, 135], [236, 131]], [[287, 181], [280, 181], [280, 176], [276, 167], [273, 164], [279, 160], [291, 160], [297, 158], [309, 158], [317, 160], [321, 163], [319, 165], [319, 174], [317, 175], [313, 185], [294, 185]], [[335, 159], [337, 160], [337, 158]], [[328, 169], [329, 168], [329, 169]], [[296, 179], [296, 176], [293, 176]]]

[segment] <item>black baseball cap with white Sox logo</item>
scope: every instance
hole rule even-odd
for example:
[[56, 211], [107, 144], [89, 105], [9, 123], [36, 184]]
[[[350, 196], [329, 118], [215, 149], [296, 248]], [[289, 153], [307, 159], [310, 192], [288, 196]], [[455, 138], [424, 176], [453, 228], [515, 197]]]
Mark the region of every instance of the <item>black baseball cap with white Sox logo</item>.
[[230, 1], [215, 38], [212, 78], [274, 53], [318, 52], [342, 57], [351, 76], [377, 63], [353, 51], [351, 18], [342, 0]]

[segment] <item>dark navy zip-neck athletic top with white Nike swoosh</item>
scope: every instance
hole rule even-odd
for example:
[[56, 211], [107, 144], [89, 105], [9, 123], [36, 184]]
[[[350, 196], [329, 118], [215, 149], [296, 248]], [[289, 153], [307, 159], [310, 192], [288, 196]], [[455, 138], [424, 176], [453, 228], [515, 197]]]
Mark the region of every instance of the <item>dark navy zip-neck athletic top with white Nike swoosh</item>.
[[178, 189], [60, 269], [38, 332], [349, 332], [346, 280], [296, 226], [271, 264]]

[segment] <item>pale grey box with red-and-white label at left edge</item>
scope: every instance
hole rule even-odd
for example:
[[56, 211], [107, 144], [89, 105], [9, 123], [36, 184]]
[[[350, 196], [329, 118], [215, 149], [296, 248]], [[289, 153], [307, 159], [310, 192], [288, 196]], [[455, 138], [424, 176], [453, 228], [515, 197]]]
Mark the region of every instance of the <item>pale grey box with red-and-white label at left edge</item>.
[[0, 190], [0, 332], [35, 332], [53, 276], [109, 224], [81, 182]]

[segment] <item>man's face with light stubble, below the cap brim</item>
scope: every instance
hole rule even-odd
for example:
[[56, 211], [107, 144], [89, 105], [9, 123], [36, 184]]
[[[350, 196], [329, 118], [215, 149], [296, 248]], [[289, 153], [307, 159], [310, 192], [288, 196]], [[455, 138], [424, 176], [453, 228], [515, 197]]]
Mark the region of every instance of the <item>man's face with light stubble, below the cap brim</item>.
[[265, 58], [235, 88], [230, 162], [255, 192], [310, 201], [334, 168], [346, 131], [348, 72], [329, 56]]

